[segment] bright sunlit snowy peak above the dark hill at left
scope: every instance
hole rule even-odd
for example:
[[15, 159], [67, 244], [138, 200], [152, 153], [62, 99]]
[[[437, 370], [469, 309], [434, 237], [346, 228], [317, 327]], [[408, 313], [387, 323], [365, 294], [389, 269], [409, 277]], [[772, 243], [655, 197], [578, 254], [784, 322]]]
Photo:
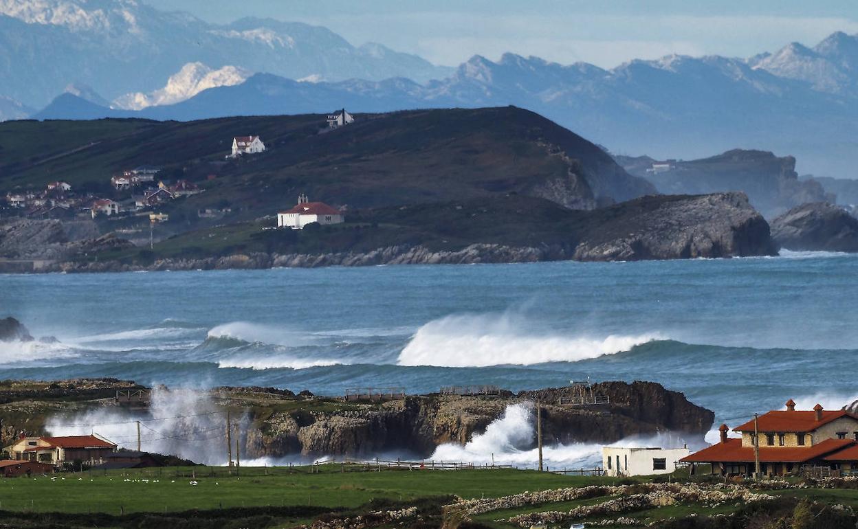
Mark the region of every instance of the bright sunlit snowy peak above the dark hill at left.
[[173, 105], [208, 88], [241, 84], [250, 76], [249, 70], [235, 66], [211, 69], [203, 63], [187, 63], [170, 76], [165, 87], [150, 93], [126, 93], [115, 99], [112, 106], [138, 111], [153, 105]]

